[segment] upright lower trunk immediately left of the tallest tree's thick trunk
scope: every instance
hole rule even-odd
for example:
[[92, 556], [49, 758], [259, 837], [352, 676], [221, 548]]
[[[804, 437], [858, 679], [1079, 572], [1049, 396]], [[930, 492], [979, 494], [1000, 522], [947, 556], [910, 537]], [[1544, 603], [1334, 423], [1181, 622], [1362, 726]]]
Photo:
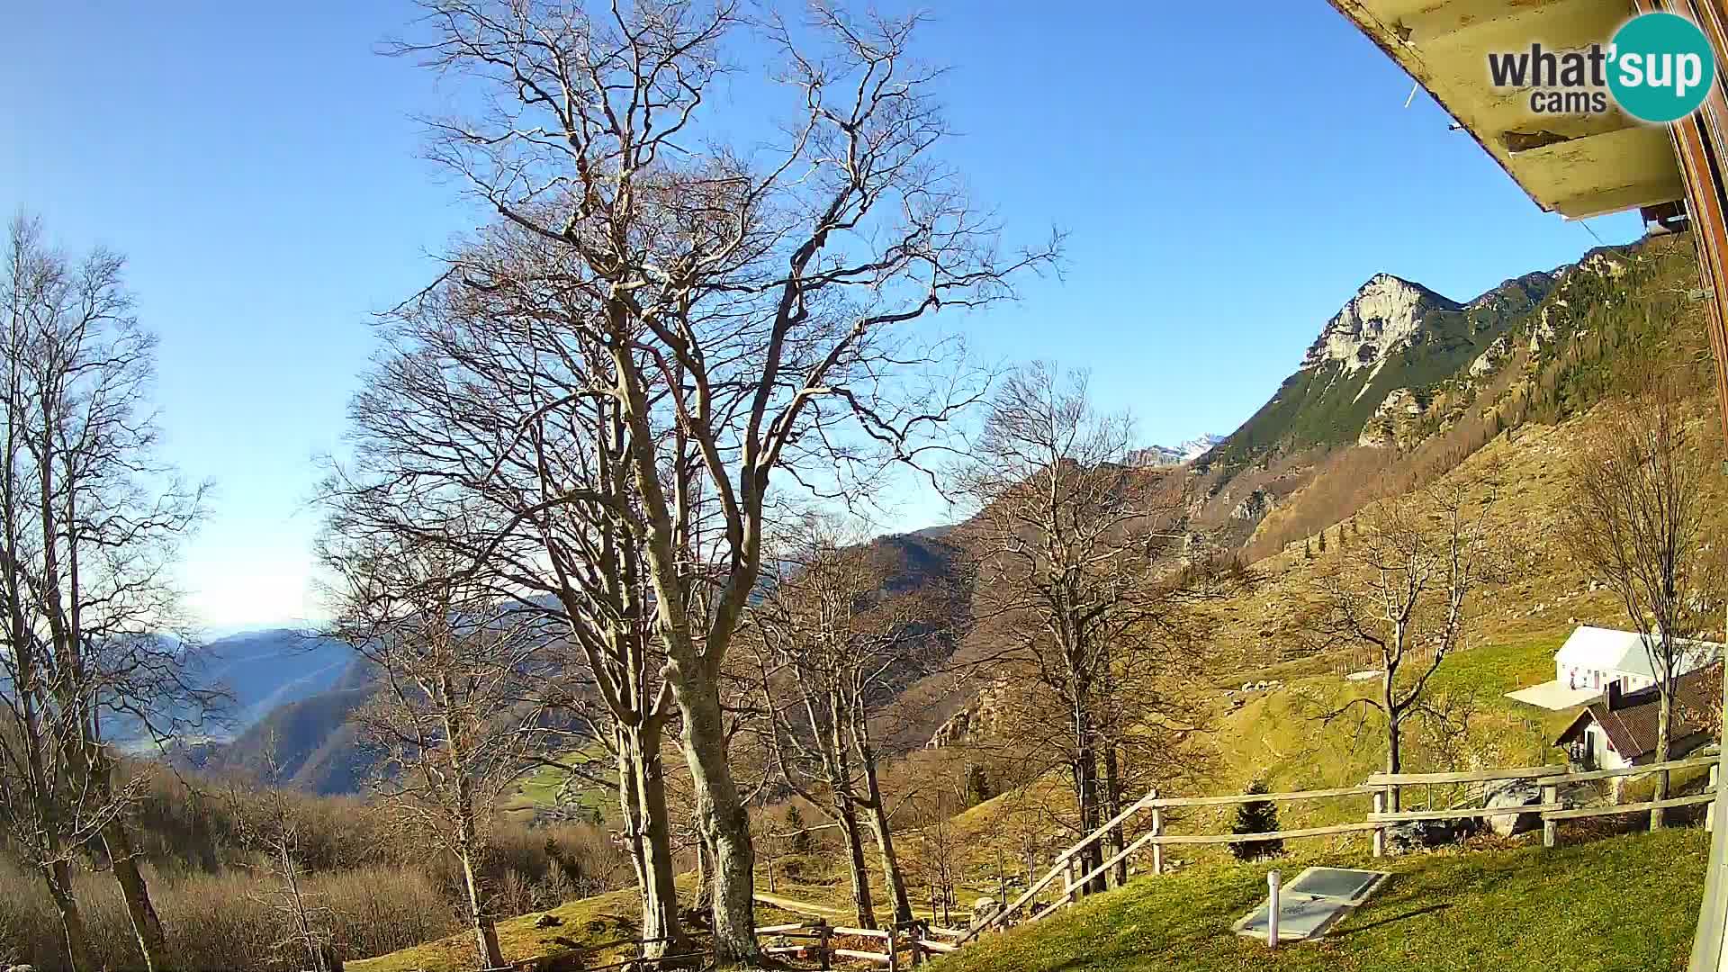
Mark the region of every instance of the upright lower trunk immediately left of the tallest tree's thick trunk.
[[677, 951], [677, 887], [672, 884], [672, 825], [665, 803], [665, 768], [660, 761], [660, 721], [615, 726], [619, 749], [619, 803], [641, 889], [643, 958]]

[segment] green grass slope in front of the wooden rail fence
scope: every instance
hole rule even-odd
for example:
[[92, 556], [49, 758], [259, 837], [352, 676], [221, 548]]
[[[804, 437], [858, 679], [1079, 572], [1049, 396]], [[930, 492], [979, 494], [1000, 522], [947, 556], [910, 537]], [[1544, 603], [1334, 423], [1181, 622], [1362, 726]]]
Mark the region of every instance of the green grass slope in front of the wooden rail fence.
[[983, 941], [931, 972], [1645, 972], [1683, 969], [1709, 837], [1664, 830], [1557, 849], [1471, 851], [1374, 861], [1393, 879], [1317, 943], [1236, 936], [1267, 892], [1267, 865], [1218, 865], [1142, 877], [1071, 911]]

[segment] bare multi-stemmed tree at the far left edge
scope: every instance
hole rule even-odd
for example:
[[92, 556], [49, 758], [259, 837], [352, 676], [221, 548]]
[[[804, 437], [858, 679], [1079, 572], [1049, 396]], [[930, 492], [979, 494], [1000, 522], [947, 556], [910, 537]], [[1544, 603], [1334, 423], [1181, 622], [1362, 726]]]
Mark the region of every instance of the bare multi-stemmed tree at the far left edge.
[[71, 870], [98, 846], [121, 886], [147, 969], [162, 927], [126, 830], [135, 783], [111, 733], [166, 740], [214, 697], [188, 678], [169, 567], [199, 519], [199, 488], [159, 465], [145, 398], [156, 339], [138, 327], [124, 259], [74, 263], [35, 220], [12, 223], [0, 458], [0, 820], [40, 868], [69, 963], [92, 969]]

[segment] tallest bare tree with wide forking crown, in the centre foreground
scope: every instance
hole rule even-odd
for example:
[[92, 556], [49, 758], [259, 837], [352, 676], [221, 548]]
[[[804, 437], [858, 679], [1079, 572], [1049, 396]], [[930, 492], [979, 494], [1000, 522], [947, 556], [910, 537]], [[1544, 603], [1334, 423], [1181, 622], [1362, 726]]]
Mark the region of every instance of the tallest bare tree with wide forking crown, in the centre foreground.
[[[935, 163], [947, 130], [938, 71], [909, 57], [916, 19], [817, 5], [797, 29], [762, 24], [791, 118], [778, 145], [733, 149], [717, 144], [724, 102], [710, 92], [746, 28], [731, 3], [425, 7], [425, 35], [399, 52], [473, 78], [487, 106], [434, 121], [432, 156], [570, 256], [569, 285], [593, 313], [565, 325], [610, 360], [593, 391], [617, 403], [639, 495], [712, 851], [715, 950], [755, 956], [750, 825], [717, 673], [757, 588], [771, 481], [821, 488], [866, 455], [918, 455], [975, 389], [923, 384], [930, 353], [895, 325], [1009, 297], [1007, 280], [1052, 247], [1002, 256], [995, 225]], [[715, 524], [705, 543], [696, 507]]]

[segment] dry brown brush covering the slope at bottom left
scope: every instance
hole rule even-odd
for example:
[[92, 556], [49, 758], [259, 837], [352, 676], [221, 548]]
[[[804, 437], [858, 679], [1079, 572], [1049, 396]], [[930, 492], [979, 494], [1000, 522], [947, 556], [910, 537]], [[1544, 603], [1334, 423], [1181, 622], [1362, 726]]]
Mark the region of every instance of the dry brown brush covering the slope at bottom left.
[[[168, 771], [137, 775], [138, 849], [181, 969], [299, 969], [285, 948], [289, 915], [275, 899], [276, 877], [247, 841], [266, 803], [285, 808], [299, 834], [304, 896], [335, 955], [359, 958], [448, 936], [461, 927], [461, 875], [448, 856], [404, 844], [391, 822], [361, 799], [266, 794], [237, 782], [181, 782]], [[589, 825], [527, 827], [499, 822], [484, 860], [494, 908], [520, 915], [629, 882], [629, 863]], [[86, 906], [92, 960], [137, 965], [137, 937], [119, 889], [104, 873], [74, 875]], [[67, 969], [59, 918], [41, 882], [0, 854], [0, 965]]]

